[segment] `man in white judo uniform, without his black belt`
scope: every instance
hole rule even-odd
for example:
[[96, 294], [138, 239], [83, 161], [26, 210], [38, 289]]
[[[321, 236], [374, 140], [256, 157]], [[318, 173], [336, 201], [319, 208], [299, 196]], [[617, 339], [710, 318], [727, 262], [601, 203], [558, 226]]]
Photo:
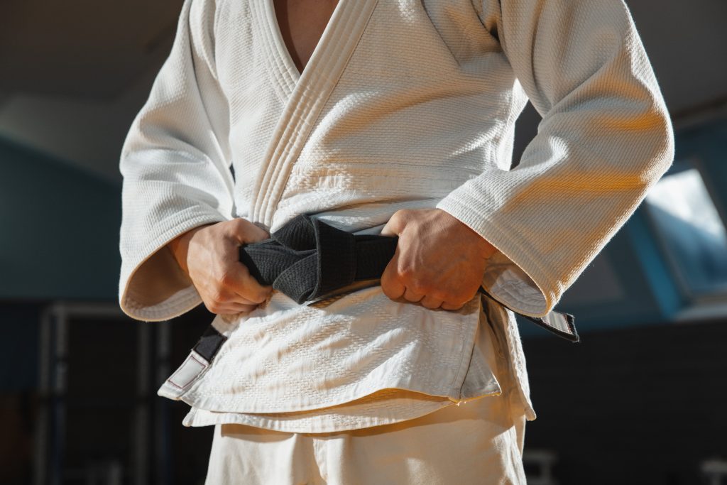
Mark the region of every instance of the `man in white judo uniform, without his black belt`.
[[[513, 311], [553, 311], [673, 143], [622, 0], [185, 0], [121, 154], [119, 302], [217, 314], [158, 391], [215, 426], [207, 483], [524, 483]], [[301, 214], [398, 236], [380, 284], [258, 284], [239, 247]]]

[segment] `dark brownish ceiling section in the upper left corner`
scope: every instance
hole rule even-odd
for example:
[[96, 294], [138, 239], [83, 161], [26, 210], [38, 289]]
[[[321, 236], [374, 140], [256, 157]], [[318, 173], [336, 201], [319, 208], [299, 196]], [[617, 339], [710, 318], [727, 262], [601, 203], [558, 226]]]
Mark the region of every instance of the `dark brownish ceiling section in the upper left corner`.
[[0, 92], [109, 102], [153, 68], [179, 0], [0, 3]]

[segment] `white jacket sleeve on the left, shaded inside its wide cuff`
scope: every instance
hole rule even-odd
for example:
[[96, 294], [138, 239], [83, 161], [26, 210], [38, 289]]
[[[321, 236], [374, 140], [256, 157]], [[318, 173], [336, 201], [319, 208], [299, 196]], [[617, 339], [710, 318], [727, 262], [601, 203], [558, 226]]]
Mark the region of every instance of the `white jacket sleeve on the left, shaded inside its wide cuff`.
[[172, 50], [121, 150], [119, 305], [139, 320], [173, 318], [202, 301], [166, 244], [233, 217], [213, 21], [213, 1], [185, 0]]

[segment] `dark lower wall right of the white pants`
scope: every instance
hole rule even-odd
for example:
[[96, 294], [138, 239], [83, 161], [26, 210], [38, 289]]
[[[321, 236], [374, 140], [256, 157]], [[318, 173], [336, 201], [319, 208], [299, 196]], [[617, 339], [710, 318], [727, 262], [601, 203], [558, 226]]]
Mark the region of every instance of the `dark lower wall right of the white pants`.
[[526, 450], [560, 485], [707, 484], [727, 460], [727, 320], [523, 340], [537, 420]]

